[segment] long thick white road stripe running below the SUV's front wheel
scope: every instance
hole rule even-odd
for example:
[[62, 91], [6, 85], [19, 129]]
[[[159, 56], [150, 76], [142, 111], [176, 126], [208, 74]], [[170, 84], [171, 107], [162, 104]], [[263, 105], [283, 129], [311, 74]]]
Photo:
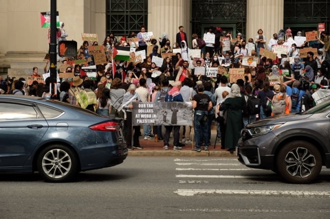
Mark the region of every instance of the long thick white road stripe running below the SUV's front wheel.
[[298, 197], [330, 197], [327, 191], [286, 191], [286, 190], [217, 190], [217, 189], [178, 189], [174, 193], [181, 196], [193, 196], [201, 194], [228, 194], [228, 195], [286, 195]]

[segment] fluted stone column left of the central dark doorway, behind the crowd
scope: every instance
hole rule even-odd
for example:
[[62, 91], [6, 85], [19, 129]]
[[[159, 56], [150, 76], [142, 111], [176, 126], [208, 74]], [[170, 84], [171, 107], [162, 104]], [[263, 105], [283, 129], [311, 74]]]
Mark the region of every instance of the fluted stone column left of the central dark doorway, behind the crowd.
[[188, 46], [191, 47], [190, 8], [189, 0], [149, 0], [147, 31], [152, 31], [156, 39], [166, 32], [172, 46], [182, 25], [187, 33]]

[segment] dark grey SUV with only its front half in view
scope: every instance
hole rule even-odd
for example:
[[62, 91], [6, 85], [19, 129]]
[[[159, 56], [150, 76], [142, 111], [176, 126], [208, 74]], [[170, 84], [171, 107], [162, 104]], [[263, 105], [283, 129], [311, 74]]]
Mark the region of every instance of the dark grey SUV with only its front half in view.
[[330, 101], [306, 112], [273, 116], [242, 130], [236, 153], [248, 167], [271, 169], [289, 183], [314, 181], [330, 168]]

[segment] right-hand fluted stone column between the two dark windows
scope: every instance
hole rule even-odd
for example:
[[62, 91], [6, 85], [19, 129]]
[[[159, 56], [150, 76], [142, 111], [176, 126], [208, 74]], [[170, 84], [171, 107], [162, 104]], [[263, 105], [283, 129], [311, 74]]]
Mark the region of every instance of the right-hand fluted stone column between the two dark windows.
[[257, 30], [262, 29], [268, 43], [283, 29], [284, 0], [247, 0], [246, 20], [246, 38], [255, 41]]

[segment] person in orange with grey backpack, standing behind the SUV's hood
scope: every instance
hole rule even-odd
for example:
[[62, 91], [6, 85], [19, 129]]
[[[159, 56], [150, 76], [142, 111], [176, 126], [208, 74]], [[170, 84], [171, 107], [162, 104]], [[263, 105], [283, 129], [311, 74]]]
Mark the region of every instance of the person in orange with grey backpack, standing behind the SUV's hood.
[[272, 100], [272, 116], [280, 114], [289, 114], [291, 111], [291, 98], [286, 94], [286, 86], [284, 84], [274, 85], [275, 92]]

